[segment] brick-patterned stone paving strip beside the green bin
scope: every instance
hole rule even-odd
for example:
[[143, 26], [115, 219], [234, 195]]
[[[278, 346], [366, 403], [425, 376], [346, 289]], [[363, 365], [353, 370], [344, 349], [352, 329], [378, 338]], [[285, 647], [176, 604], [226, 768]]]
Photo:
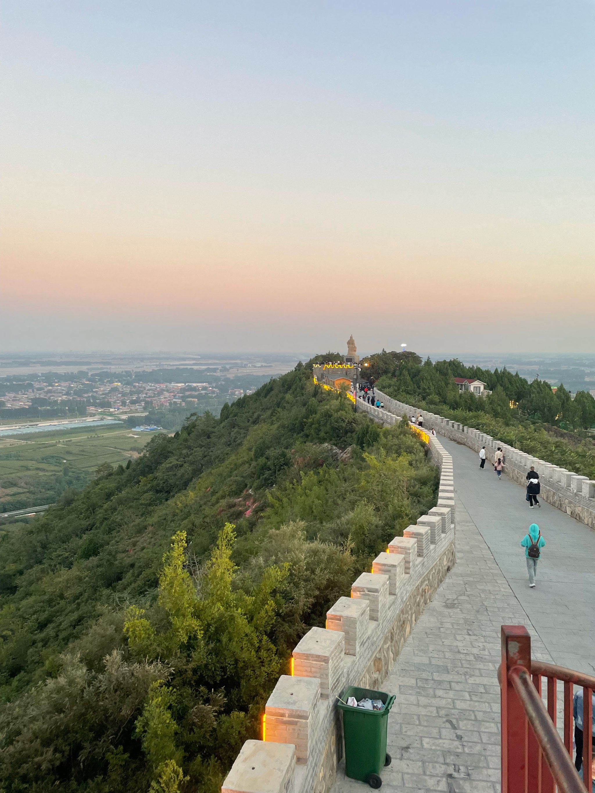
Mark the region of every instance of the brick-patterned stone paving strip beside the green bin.
[[[500, 791], [500, 626], [526, 626], [533, 657], [552, 661], [458, 498], [456, 508], [455, 568], [382, 686], [397, 694], [387, 745], [393, 762], [382, 771], [386, 793]], [[363, 790], [341, 763], [333, 793]]]

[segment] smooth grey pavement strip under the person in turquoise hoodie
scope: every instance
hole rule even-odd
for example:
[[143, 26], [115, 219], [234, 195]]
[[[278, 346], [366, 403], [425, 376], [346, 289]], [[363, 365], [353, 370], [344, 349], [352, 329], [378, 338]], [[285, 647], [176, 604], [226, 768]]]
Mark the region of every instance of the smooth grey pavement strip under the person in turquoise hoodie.
[[[551, 504], [529, 509], [524, 488], [506, 476], [498, 481], [490, 465], [480, 470], [467, 446], [440, 442], [453, 458], [457, 496], [554, 662], [595, 674], [595, 531]], [[534, 589], [520, 548], [531, 523], [547, 543]]]

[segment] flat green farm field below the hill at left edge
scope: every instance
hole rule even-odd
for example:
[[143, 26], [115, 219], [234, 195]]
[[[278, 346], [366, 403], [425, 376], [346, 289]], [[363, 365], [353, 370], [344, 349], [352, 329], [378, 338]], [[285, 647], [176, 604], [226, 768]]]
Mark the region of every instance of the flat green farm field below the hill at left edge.
[[124, 465], [156, 433], [90, 425], [0, 439], [0, 512], [53, 504], [68, 488], [82, 488], [98, 465]]

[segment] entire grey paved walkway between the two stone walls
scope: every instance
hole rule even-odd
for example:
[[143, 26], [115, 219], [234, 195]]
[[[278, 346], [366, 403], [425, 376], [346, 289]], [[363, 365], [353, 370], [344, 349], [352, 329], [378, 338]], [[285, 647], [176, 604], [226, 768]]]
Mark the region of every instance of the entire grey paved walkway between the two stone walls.
[[[526, 626], [533, 657], [590, 672], [595, 532], [547, 504], [530, 511], [523, 488], [480, 471], [465, 446], [440, 442], [455, 465], [457, 561], [383, 687], [397, 701], [382, 790], [497, 793], [500, 626]], [[519, 545], [532, 520], [547, 540], [535, 589]], [[340, 766], [333, 793], [366, 789]]]

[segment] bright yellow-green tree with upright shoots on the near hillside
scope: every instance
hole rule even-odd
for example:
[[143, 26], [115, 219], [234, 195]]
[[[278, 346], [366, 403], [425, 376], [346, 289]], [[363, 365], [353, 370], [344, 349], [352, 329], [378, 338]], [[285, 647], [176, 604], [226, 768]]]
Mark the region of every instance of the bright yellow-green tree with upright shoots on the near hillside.
[[[151, 764], [152, 790], [175, 785], [185, 771], [202, 773], [204, 762], [235, 757], [281, 671], [282, 660], [269, 633], [277, 610], [275, 593], [288, 569], [271, 565], [247, 593], [234, 586], [234, 527], [227, 523], [199, 580], [200, 595], [186, 570], [186, 534], [177, 532], [159, 575], [159, 610], [152, 619], [131, 607], [125, 623], [135, 656], [166, 657], [174, 666], [171, 685], [157, 681], [136, 722]], [[163, 629], [164, 628], [164, 629]], [[221, 704], [203, 703], [206, 692], [221, 687]], [[202, 757], [186, 768], [185, 757], [202, 747]], [[210, 759], [209, 759], [210, 755]], [[197, 770], [198, 769], [198, 770]], [[167, 788], [170, 790], [170, 788]], [[177, 788], [171, 787], [171, 791]]]

